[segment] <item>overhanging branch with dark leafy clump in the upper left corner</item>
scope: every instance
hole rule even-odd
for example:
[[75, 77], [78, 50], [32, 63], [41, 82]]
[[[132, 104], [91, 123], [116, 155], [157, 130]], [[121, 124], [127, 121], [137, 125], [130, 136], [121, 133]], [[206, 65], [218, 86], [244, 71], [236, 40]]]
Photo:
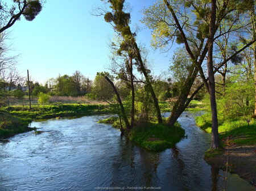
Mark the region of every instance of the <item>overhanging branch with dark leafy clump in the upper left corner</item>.
[[26, 20], [34, 20], [42, 10], [40, 0], [14, 0], [13, 3], [0, 2], [0, 34], [13, 26], [23, 15]]

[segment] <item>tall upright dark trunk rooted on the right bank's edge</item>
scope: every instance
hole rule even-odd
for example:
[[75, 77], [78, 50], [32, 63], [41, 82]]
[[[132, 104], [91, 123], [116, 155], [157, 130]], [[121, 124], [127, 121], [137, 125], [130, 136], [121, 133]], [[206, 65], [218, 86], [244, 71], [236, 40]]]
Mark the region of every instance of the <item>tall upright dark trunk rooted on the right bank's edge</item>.
[[215, 81], [213, 71], [213, 43], [214, 43], [214, 31], [216, 21], [216, 0], [212, 0], [212, 10], [210, 12], [210, 27], [209, 27], [209, 48], [207, 68], [209, 76], [209, 95], [210, 95], [210, 109], [212, 111], [212, 143], [211, 148], [216, 149], [220, 146], [220, 140], [218, 138], [218, 117], [217, 117], [217, 104], [215, 97]]

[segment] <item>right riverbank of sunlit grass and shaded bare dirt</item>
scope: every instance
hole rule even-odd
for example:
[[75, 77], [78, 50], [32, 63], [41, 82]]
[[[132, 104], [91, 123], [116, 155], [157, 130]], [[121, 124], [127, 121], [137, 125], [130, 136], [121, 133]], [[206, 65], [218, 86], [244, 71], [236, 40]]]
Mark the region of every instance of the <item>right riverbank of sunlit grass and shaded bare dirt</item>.
[[[207, 151], [205, 160], [209, 164], [217, 165], [225, 169], [228, 146], [225, 144], [227, 138], [232, 145], [229, 146], [229, 171], [236, 173], [241, 178], [256, 186], [256, 124], [255, 119], [250, 119], [248, 126], [245, 118], [237, 118], [232, 121], [220, 120], [219, 134], [222, 150]], [[196, 124], [205, 132], [210, 133], [210, 115], [205, 113], [196, 118]]]

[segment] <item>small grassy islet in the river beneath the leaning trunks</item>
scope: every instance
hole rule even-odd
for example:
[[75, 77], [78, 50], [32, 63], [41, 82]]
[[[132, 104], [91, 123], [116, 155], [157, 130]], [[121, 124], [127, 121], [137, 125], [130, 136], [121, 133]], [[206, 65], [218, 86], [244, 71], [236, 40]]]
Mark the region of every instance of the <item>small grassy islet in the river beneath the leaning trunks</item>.
[[[118, 127], [118, 118], [111, 117], [99, 121]], [[174, 127], [166, 124], [148, 123], [144, 127], [134, 127], [127, 136], [133, 143], [148, 151], [160, 152], [171, 148], [185, 136], [185, 131], [176, 123]]]

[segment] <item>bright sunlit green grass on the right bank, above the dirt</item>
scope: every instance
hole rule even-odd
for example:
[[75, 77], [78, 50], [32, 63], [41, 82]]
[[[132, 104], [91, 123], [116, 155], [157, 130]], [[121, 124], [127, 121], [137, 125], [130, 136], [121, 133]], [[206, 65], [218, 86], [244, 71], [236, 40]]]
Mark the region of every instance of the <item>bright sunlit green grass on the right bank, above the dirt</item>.
[[[211, 132], [210, 115], [204, 114], [196, 118], [196, 124], [208, 133]], [[232, 136], [233, 142], [238, 145], [256, 144], [256, 121], [250, 119], [250, 124], [244, 117], [237, 119], [219, 120], [218, 132], [220, 139]]]

